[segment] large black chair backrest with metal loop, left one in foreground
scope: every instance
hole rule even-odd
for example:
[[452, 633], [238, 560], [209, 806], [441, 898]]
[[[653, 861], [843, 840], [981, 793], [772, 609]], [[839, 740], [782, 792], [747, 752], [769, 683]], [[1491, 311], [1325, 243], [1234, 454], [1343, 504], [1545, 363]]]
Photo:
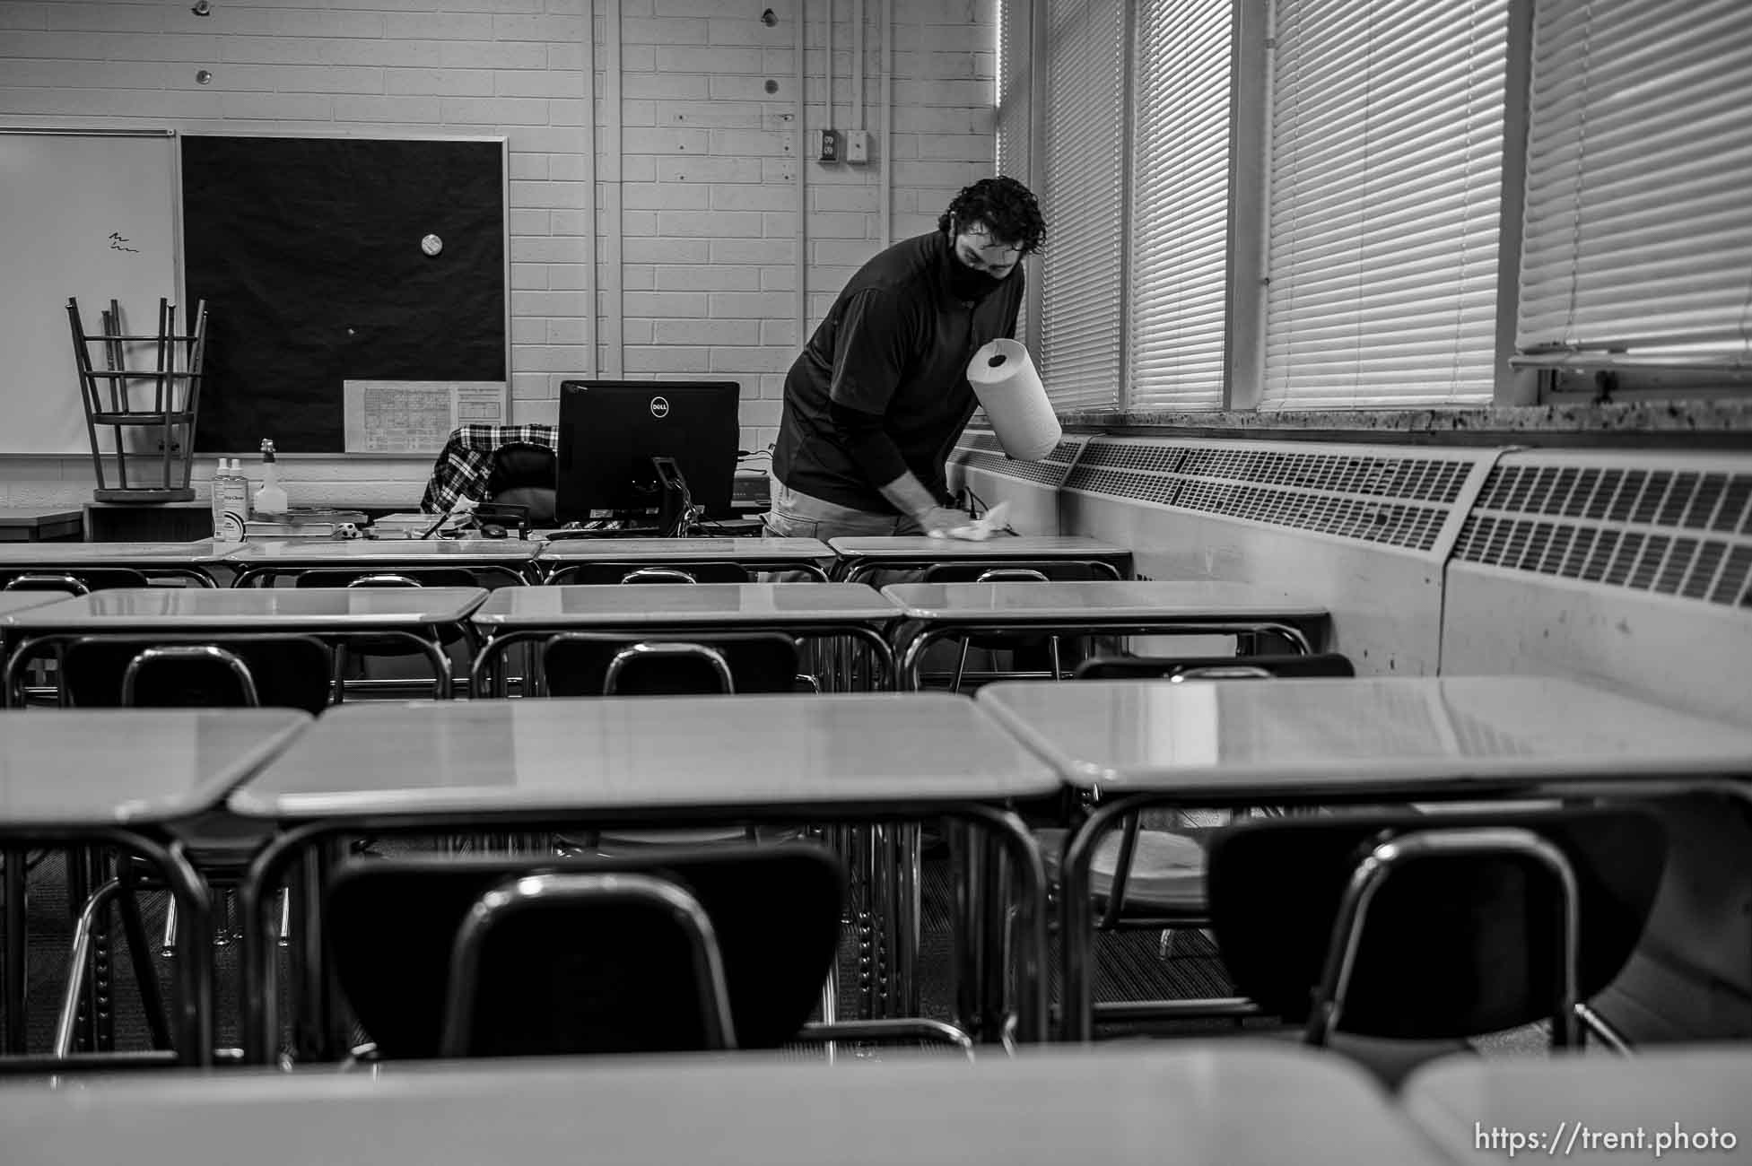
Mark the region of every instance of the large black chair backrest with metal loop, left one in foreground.
[[[774, 1049], [809, 1019], [839, 942], [844, 870], [813, 846], [648, 851], [590, 860], [373, 860], [328, 886], [342, 993], [384, 1057], [438, 1056], [459, 928], [531, 874], [638, 874], [697, 900], [724, 968], [736, 1043]], [[659, 912], [555, 898], [505, 919], [478, 951], [468, 1052], [711, 1047], [694, 951]]]

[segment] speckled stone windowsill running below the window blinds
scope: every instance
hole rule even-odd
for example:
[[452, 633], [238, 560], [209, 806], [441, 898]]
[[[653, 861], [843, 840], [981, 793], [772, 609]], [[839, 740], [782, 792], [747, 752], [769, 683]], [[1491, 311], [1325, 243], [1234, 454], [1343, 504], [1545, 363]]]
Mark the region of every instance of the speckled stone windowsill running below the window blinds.
[[1752, 448], [1752, 401], [1636, 401], [1454, 410], [1211, 411], [1076, 410], [1070, 431], [1268, 438], [1279, 441], [1405, 441], [1416, 445], [1687, 445]]

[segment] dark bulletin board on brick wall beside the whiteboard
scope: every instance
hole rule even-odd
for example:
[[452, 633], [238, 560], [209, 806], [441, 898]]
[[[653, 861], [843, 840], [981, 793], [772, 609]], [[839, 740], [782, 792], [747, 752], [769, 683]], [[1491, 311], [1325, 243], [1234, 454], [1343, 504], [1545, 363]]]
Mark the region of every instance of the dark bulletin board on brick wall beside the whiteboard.
[[501, 140], [184, 137], [182, 256], [196, 450], [340, 453], [345, 380], [508, 376]]

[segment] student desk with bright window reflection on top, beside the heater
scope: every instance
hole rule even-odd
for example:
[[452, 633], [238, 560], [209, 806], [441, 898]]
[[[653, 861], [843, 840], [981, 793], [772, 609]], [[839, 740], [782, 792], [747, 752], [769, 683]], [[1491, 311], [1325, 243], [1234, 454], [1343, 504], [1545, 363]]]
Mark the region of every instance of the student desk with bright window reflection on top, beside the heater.
[[979, 690], [1067, 784], [1106, 802], [1065, 844], [1065, 1036], [1086, 1040], [1090, 863], [1151, 805], [1544, 795], [1752, 774], [1752, 732], [1547, 676], [997, 683]]

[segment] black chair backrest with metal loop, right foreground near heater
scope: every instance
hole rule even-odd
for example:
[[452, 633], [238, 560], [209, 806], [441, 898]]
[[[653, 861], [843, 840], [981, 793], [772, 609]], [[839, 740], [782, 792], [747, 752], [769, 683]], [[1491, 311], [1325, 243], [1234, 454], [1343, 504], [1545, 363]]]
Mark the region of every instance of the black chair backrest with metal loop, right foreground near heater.
[[[1367, 812], [1249, 819], [1212, 832], [1211, 928], [1240, 994], [1305, 1021], [1333, 923], [1368, 851], [1419, 830], [1514, 826], [1570, 861], [1579, 896], [1580, 998], [1636, 947], [1666, 863], [1659, 821], [1636, 807]], [[1347, 1033], [1459, 1038], [1551, 1015], [1561, 968], [1558, 886], [1524, 856], [1430, 860], [1395, 872], [1363, 924]]]

